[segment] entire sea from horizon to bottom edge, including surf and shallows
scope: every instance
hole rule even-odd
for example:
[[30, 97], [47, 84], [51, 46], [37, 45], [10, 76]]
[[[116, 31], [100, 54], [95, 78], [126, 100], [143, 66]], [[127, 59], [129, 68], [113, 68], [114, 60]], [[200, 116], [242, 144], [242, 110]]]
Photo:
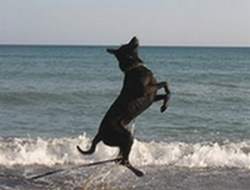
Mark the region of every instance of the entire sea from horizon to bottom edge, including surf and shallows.
[[[131, 127], [135, 177], [103, 143], [87, 148], [118, 96], [123, 73], [104, 46], [0, 46], [0, 189], [248, 190], [250, 186], [250, 48], [141, 47], [161, 102]], [[159, 91], [161, 93], [163, 91]], [[74, 169], [68, 169], [68, 168]], [[65, 169], [37, 180], [42, 173]]]

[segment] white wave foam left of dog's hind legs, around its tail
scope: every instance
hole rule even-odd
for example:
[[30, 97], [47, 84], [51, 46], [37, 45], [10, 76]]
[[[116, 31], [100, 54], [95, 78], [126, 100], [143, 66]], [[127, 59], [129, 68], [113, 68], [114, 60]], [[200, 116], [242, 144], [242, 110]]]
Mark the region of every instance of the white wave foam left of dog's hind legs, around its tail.
[[83, 156], [76, 145], [87, 149], [91, 139], [86, 135], [77, 138], [11, 138], [0, 139], [0, 164], [32, 165], [41, 164], [52, 166], [55, 164], [80, 164], [87, 161], [95, 161], [101, 158], [109, 158], [116, 150], [100, 143], [94, 156]]

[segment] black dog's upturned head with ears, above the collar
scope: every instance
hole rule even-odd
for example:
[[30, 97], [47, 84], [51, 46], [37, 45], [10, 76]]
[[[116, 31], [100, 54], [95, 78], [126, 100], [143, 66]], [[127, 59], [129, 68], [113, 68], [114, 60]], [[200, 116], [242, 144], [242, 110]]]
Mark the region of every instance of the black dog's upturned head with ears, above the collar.
[[115, 55], [119, 61], [119, 67], [123, 72], [130, 70], [142, 63], [138, 56], [139, 41], [133, 37], [128, 44], [122, 45], [118, 49], [107, 49], [107, 52]]

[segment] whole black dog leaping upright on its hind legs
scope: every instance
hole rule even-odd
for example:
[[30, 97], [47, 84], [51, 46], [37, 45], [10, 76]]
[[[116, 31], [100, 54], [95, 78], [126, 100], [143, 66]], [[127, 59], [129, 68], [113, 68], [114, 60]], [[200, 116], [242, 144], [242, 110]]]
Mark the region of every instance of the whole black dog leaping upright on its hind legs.
[[[167, 82], [157, 83], [153, 73], [146, 68], [138, 57], [139, 42], [134, 37], [128, 44], [119, 49], [107, 49], [118, 59], [119, 67], [125, 74], [120, 95], [104, 116], [99, 131], [93, 139], [89, 150], [77, 149], [82, 154], [92, 154], [97, 143], [103, 141], [106, 145], [119, 147], [120, 164], [130, 169], [129, 153], [133, 144], [133, 135], [127, 128], [128, 124], [145, 111], [153, 102], [163, 100], [161, 112], [167, 109], [170, 91]], [[166, 94], [157, 95], [157, 90], [164, 88]], [[141, 176], [143, 173], [138, 173]]]

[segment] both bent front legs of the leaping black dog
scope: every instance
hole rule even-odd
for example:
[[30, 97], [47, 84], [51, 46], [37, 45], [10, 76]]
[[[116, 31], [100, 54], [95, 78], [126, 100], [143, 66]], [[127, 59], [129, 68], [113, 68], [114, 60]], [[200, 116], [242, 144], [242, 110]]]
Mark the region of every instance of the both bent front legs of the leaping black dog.
[[156, 95], [154, 101], [163, 100], [163, 105], [161, 106], [161, 112], [164, 112], [167, 109], [167, 103], [170, 99], [170, 90], [168, 88], [167, 82], [160, 82], [156, 84], [157, 89], [164, 88], [166, 94], [164, 95]]

